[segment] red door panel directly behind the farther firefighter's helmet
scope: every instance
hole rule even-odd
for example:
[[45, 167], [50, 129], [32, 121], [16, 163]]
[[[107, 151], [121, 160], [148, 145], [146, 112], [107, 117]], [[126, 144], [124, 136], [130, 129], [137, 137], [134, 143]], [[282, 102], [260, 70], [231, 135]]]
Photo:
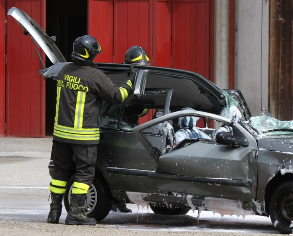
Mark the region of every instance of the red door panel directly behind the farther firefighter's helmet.
[[143, 47], [152, 62], [152, 0], [114, 0], [114, 63], [126, 50]]

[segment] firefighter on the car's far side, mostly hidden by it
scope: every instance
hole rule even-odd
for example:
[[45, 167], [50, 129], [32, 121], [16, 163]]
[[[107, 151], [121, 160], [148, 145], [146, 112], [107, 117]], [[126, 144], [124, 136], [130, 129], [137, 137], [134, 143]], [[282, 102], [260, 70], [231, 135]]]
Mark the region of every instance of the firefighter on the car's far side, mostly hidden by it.
[[[125, 53], [125, 58], [124, 58], [124, 64], [134, 64], [134, 65], [145, 65], [149, 66], [149, 58], [147, 56], [146, 50], [140, 46], [132, 46], [129, 47], [128, 50]], [[132, 108], [130, 108], [132, 109]], [[142, 110], [142, 115], [145, 116], [148, 113], [148, 109], [143, 109]], [[142, 115], [136, 115], [138, 114], [136, 110], [133, 111], [133, 116], [142, 116]], [[136, 119], [134, 117], [134, 119]], [[126, 207], [126, 204], [124, 203], [119, 203], [119, 202], [114, 202], [112, 204], [112, 209], [113, 212], [132, 212], [130, 209]]]

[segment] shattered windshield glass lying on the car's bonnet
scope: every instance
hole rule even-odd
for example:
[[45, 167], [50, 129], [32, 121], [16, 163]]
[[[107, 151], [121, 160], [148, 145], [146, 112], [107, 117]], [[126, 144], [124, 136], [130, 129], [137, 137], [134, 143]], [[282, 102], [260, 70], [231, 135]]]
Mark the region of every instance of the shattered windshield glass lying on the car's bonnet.
[[257, 117], [251, 117], [249, 123], [258, 134], [293, 135], [293, 120], [282, 121], [262, 114]]

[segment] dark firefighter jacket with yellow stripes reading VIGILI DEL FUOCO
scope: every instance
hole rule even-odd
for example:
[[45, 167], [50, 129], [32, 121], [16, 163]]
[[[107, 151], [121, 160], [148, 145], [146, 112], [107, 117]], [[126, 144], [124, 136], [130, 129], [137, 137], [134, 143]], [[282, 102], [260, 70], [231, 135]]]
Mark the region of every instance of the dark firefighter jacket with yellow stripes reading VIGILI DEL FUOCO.
[[53, 139], [77, 144], [97, 144], [102, 102], [117, 104], [133, 92], [131, 80], [120, 87], [102, 71], [70, 63], [57, 77], [57, 103]]

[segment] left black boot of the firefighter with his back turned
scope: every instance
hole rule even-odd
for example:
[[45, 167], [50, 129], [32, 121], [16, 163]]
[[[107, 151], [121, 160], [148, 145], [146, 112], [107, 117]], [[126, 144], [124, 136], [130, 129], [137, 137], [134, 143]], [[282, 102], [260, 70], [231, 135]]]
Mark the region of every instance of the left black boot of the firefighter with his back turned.
[[63, 194], [51, 192], [51, 201], [47, 222], [58, 224], [62, 212]]

